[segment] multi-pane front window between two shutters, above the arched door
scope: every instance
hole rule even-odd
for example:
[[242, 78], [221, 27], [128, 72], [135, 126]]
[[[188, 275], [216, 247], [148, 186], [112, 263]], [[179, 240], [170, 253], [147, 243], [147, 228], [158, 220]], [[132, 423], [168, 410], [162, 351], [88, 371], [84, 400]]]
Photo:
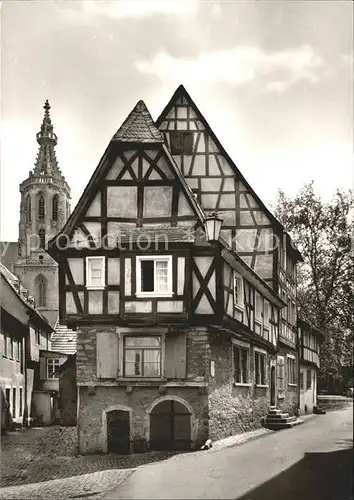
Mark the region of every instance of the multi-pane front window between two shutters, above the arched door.
[[161, 377], [161, 337], [124, 338], [124, 376]]

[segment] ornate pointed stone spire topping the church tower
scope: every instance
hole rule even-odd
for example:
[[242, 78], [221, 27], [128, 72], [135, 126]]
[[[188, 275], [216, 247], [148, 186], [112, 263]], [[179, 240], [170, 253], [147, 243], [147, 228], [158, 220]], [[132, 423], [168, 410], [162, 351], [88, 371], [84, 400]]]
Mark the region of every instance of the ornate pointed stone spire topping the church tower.
[[61, 177], [61, 172], [58, 167], [58, 162], [55, 155], [55, 146], [58, 138], [53, 132], [52, 120], [49, 110], [50, 104], [48, 99], [44, 103], [44, 116], [40, 131], [37, 133], [37, 142], [39, 150], [34, 168], [34, 175], [51, 175], [53, 177]]

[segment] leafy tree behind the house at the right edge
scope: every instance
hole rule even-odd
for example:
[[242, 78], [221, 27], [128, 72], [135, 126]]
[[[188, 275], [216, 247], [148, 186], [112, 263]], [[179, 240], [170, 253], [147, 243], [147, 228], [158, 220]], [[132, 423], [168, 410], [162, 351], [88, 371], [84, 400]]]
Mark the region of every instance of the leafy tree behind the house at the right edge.
[[342, 366], [353, 365], [353, 192], [337, 190], [325, 202], [311, 182], [293, 199], [279, 191], [275, 212], [304, 257], [298, 272], [299, 313], [327, 334], [322, 379], [341, 378]]

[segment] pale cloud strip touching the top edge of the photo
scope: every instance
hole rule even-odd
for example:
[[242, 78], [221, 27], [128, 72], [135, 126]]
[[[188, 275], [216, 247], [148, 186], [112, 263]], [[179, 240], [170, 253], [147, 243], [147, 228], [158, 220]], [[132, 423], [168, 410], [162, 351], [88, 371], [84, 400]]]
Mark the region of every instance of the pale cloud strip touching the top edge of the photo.
[[154, 15], [191, 16], [198, 8], [197, 0], [84, 0], [61, 7], [77, 23], [91, 22], [98, 16], [110, 19], [144, 19]]

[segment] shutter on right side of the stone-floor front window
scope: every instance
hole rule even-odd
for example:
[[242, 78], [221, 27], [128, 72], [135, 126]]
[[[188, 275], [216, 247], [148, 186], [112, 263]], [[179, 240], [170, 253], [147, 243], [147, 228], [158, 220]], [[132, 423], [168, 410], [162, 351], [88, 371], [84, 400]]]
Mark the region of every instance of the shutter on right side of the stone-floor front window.
[[186, 378], [186, 334], [183, 332], [168, 333], [165, 345], [165, 376], [166, 378]]

